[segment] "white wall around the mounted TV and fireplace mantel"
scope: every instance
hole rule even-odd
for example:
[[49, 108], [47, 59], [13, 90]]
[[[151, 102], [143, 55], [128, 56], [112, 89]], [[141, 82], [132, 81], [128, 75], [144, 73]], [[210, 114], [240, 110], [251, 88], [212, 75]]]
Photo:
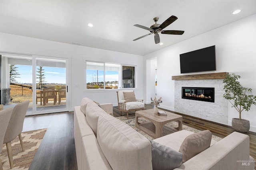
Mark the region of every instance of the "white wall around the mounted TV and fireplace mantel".
[[[229, 72], [242, 76], [240, 83], [252, 88], [256, 95], [256, 15], [224, 25], [212, 31], [198, 35], [186, 41], [166, 47], [144, 56], [145, 60], [157, 57], [158, 96], [162, 96], [162, 108], [174, 110], [174, 80], [172, 76], [180, 74], [179, 55], [196, 49], [216, 45], [216, 71]], [[186, 33], [186, 30], [185, 30]], [[169, 35], [171, 38], [171, 35]], [[210, 72], [197, 72], [201, 74]], [[145, 74], [145, 73], [144, 73]], [[144, 82], [144, 86], [147, 84]], [[250, 131], [256, 132], [256, 106], [242, 112], [242, 118], [250, 120]], [[228, 106], [228, 125], [238, 112]]]

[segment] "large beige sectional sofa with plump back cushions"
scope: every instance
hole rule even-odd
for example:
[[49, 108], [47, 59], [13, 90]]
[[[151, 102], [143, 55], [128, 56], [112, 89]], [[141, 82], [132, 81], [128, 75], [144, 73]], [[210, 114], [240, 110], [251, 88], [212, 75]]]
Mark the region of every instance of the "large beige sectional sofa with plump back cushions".
[[[152, 170], [152, 142], [113, 117], [112, 109], [112, 104], [99, 105], [89, 98], [74, 107], [78, 170]], [[177, 152], [191, 134], [182, 130], [153, 141]], [[249, 152], [248, 135], [234, 132], [219, 142], [212, 140], [208, 149], [175, 170], [252, 170], [254, 159]]]

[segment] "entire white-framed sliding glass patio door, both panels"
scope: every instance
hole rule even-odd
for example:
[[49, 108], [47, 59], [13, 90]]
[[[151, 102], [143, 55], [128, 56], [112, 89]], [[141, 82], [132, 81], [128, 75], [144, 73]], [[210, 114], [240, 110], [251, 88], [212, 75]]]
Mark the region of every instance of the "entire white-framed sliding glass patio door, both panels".
[[1, 104], [29, 100], [27, 115], [68, 111], [68, 59], [2, 54]]

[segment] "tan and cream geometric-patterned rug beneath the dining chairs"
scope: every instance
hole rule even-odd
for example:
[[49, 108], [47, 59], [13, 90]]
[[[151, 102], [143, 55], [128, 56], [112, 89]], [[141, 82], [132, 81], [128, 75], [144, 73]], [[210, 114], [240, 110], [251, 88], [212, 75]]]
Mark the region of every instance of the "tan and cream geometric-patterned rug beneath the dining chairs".
[[[47, 129], [39, 129], [34, 131], [22, 132], [22, 141], [25, 151], [22, 152], [19, 137], [12, 140], [12, 154], [14, 168], [12, 170], [28, 170], [36, 151], [46, 133]], [[0, 154], [3, 170], [10, 170], [10, 163], [6, 150], [6, 145], [3, 145], [2, 153]]]

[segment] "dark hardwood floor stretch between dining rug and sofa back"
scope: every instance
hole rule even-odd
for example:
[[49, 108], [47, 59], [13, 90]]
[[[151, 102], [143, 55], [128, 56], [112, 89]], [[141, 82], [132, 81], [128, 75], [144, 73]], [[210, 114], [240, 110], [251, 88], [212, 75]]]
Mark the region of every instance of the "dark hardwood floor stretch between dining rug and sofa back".
[[74, 112], [26, 116], [23, 131], [47, 128], [30, 170], [77, 170]]

